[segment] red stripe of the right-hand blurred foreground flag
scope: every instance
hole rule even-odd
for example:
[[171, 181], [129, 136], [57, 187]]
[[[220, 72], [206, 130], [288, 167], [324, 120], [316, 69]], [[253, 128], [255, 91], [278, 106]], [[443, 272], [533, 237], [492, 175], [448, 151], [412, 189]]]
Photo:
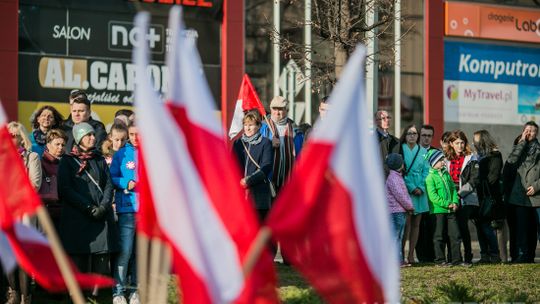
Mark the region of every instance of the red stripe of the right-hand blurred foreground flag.
[[329, 167], [332, 150], [315, 142], [306, 147], [268, 225], [326, 301], [384, 303], [356, 233], [352, 196]]

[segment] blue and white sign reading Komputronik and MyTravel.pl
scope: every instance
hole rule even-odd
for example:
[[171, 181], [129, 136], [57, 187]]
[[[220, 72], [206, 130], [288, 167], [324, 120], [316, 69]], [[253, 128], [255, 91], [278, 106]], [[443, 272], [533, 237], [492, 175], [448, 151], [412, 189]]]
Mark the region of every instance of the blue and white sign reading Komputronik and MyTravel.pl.
[[540, 48], [445, 42], [445, 120], [520, 125], [540, 118]]

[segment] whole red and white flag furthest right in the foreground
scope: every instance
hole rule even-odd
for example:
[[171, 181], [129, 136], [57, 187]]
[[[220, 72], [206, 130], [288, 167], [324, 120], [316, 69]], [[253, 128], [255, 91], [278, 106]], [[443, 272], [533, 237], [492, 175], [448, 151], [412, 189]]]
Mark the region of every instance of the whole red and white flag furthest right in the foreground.
[[267, 224], [329, 303], [398, 303], [398, 254], [357, 48]]

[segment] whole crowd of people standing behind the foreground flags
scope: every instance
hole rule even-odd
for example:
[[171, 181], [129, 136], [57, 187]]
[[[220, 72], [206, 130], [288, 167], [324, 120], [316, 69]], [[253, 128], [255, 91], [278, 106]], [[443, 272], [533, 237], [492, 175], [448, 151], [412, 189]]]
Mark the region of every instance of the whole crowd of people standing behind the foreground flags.
[[[321, 100], [320, 119], [330, 110], [326, 101]], [[74, 264], [82, 272], [113, 277], [114, 304], [139, 303], [135, 114], [118, 111], [107, 133], [103, 123], [91, 117], [85, 92], [72, 91], [69, 103], [65, 120], [47, 105], [34, 113], [30, 133], [19, 122], [9, 123], [8, 130]], [[243, 133], [232, 145], [242, 172], [239, 184], [253, 199], [261, 221], [292, 172], [311, 128], [297, 126], [288, 110], [289, 101], [276, 96], [269, 115], [246, 112]], [[432, 145], [432, 126], [409, 125], [398, 139], [388, 132], [390, 122], [388, 112], [375, 113], [375, 136], [384, 160], [387, 203], [402, 267], [418, 262], [471, 266], [469, 222], [476, 226], [479, 263], [506, 262], [509, 257], [512, 262], [534, 262], [540, 228], [538, 125], [525, 124], [503, 165], [486, 130], [473, 134], [472, 145], [460, 130], [445, 132], [437, 149]], [[33, 218], [21, 221], [39, 228]], [[276, 246], [269, 247], [275, 254]], [[24, 271], [17, 269], [4, 281], [6, 303], [31, 303], [31, 277]], [[91, 293], [96, 296], [98, 290]]]

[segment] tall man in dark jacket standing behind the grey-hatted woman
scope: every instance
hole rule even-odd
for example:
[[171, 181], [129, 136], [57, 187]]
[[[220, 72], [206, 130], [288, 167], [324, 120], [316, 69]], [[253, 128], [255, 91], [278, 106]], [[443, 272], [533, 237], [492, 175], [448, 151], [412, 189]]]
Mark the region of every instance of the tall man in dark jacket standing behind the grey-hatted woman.
[[101, 143], [107, 137], [107, 131], [105, 130], [105, 125], [102, 122], [95, 120], [90, 116], [92, 113], [90, 100], [86, 93], [80, 90], [71, 92], [69, 95], [69, 104], [70, 104], [70, 115], [63, 122], [62, 129], [68, 136], [66, 142], [66, 153], [71, 152], [73, 148], [73, 126], [81, 122], [86, 122], [92, 126], [95, 130], [96, 136], [96, 147], [101, 147]]

